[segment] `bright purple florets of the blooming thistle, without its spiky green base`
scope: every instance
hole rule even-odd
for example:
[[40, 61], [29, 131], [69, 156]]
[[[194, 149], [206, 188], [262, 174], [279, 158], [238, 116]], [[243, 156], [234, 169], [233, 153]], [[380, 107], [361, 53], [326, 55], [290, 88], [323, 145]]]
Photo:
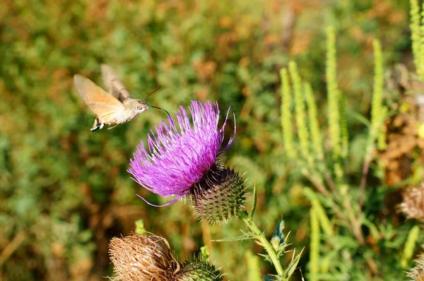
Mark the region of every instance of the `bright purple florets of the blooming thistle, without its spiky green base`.
[[176, 112], [177, 125], [172, 117], [168, 117], [169, 124], [163, 121], [156, 126], [155, 132], [148, 134], [148, 149], [142, 142], [130, 160], [128, 172], [133, 175], [131, 179], [160, 196], [176, 196], [165, 205], [191, 193], [195, 184], [216, 165], [218, 156], [230, 148], [235, 137], [234, 134], [228, 145], [220, 150], [230, 109], [220, 129], [217, 102], [192, 101], [189, 110], [192, 121], [184, 107], [180, 107]]

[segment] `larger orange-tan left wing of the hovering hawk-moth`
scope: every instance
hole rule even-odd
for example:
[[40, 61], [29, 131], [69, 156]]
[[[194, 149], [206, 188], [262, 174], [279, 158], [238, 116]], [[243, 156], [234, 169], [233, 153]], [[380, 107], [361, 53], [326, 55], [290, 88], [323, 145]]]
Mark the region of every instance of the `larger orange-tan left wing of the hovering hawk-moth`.
[[109, 119], [115, 113], [120, 113], [125, 109], [122, 102], [119, 102], [112, 95], [108, 95], [105, 90], [95, 85], [90, 79], [77, 74], [74, 76], [73, 82], [84, 102], [103, 121], [105, 121], [105, 118]]

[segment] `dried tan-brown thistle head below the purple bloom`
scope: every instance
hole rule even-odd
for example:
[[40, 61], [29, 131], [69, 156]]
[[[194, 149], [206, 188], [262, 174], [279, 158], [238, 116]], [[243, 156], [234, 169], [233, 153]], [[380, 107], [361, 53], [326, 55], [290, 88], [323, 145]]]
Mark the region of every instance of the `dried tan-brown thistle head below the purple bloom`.
[[114, 237], [109, 244], [114, 280], [165, 281], [179, 271], [170, 245], [163, 237], [132, 234]]

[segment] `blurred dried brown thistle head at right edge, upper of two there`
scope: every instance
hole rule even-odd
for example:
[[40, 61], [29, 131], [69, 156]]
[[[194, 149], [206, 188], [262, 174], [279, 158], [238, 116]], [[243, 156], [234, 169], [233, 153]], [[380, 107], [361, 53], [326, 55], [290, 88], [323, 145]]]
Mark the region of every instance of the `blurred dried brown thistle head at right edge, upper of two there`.
[[424, 185], [414, 186], [402, 193], [404, 201], [399, 205], [408, 219], [424, 222]]

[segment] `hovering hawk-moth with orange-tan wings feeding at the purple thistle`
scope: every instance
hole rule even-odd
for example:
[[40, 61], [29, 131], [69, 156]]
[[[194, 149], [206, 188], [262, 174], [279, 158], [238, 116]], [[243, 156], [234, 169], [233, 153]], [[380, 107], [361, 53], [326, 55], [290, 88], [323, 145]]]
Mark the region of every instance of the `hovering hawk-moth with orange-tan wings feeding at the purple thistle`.
[[161, 109], [169, 116], [165, 109], [148, 105], [145, 101], [160, 87], [153, 90], [143, 100], [133, 99], [122, 81], [117, 78], [113, 68], [106, 64], [102, 64], [102, 80], [107, 92], [84, 76], [76, 74], [73, 77], [76, 90], [96, 117], [90, 131], [94, 132], [105, 125], [114, 125], [107, 128], [110, 130], [119, 124], [134, 119], [150, 107]]

